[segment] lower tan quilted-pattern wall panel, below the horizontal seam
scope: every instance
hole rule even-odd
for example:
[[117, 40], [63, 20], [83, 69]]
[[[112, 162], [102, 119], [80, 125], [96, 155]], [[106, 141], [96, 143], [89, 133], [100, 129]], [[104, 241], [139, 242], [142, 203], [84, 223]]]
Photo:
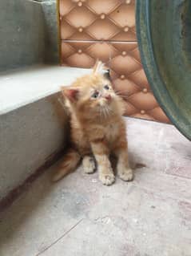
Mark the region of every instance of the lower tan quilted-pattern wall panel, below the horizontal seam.
[[141, 66], [137, 42], [62, 41], [62, 65], [93, 67], [101, 59], [111, 70], [113, 85], [126, 103], [126, 115], [168, 123]]

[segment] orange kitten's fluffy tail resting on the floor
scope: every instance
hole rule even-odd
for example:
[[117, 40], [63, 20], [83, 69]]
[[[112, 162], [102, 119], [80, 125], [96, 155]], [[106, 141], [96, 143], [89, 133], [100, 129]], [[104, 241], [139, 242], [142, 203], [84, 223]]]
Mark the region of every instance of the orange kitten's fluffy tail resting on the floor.
[[76, 169], [81, 156], [78, 152], [72, 148], [66, 152], [62, 163], [59, 166], [57, 173], [54, 174], [53, 181], [59, 181], [62, 177], [65, 177], [66, 174], [74, 172]]

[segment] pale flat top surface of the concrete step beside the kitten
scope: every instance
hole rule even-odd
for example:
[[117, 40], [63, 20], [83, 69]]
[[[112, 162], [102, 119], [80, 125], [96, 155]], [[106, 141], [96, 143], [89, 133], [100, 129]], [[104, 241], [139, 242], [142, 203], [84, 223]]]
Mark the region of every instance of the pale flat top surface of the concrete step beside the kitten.
[[90, 70], [78, 67], [36, 65], [0, 73], [0, 115], [42, 99], [70, 85]]

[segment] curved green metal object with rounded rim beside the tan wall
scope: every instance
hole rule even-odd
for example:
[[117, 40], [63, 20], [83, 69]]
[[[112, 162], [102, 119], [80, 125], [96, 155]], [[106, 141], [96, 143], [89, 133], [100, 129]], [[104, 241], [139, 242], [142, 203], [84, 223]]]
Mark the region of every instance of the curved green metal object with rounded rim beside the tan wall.
[[191, 140], [191, 1], [137, 0], [137, 40], [153, 94]]

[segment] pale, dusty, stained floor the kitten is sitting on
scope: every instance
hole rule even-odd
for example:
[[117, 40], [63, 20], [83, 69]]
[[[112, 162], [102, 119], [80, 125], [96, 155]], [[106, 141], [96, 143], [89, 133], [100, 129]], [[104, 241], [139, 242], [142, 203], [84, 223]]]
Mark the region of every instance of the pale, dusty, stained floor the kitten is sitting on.
[[78, 169], [40, 177], [0, 218], [1, 256], [190, 256], [191, 142], [128, 119], [135, 179], [110, 187]]

